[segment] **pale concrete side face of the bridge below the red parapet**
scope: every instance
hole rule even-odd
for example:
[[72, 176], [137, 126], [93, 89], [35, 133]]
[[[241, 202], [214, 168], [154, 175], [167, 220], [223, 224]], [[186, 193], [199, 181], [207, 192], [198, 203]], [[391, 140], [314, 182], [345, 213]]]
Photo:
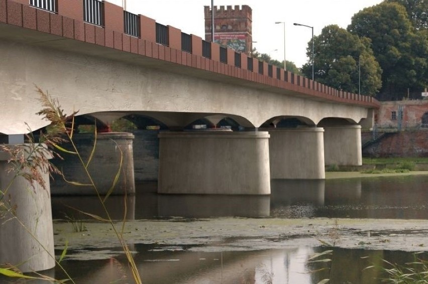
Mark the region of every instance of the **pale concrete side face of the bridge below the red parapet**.
[[[57, 39], [57, 45], [76, 44]], [[93, 45], [85, 48], [87, 54], [79, 54], [0, 40], [0, 100], [4, 102], [0, 105], [0, 132], [25, 133], [28, 126], [24, 122], [33, 130], [48, 124], [35, 114], [40, 110], [35, 84], [58, 98], [66, 113], [151, 112], [170, 127], [212, 114], [233, 117], [245, 127], [259, 127], [284, 115], [306, 117], [313, 124], [325, 117], [357, 123], [368, 116], [368, 107], [361, 105], [322, 101], [297, 90], [254, 86], [224, 77], [214, 81], [211, 72], [204, 78], [187, 69], [172, 73], [157, 69], [156, 62], [142, 56], [121, 53], [121, 57], [110, 49], [95, 51]], [[111, 59], [115, 56], [118, 61]]]

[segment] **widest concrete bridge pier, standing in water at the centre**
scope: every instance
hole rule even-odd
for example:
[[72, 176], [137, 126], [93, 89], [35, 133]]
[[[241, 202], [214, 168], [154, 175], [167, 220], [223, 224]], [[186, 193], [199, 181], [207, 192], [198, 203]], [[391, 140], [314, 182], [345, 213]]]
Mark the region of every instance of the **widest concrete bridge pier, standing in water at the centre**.
[[270, 194], [269, 134], [159, 133], [158, 193]]

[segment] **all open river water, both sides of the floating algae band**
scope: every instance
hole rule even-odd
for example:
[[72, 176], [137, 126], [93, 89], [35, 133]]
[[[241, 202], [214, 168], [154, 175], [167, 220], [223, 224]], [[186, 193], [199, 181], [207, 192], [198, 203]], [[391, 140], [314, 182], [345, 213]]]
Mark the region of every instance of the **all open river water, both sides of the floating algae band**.
[[[398, 176], [325, 181], [272, 180], [271, 196], [158, 195], [156, 183], [137, 185], [137, 195], [127, 198], [130, 220], [212, 217], [244, 218], [374, 218], [427, 219], [428, 176]], [[113, 218], [122, 217], [123, 197], [112, 196], [108, 208]], [[100, 214], [93, 197], [53, 197], [54, 219], [84, 218], [67, 205]], [[78, 206], [76, 206], [78, 205]], [[96, 248], [88, 247], [88, 250]], [[103, 248], [105, 249], [105, 248]], [[174, 246], [134, 244], [135, 260], [143, 283], [297, 283], [316, 284], [324, 278], [331, 283], [380, 283], [385, 276], [382, 259], [403, 264], [413, 253], [391, 250], [364, 250], [296, 245], [281, 249], [222, 250], [209, 245]], [[310, 262], [311, 255], [332, 249], [332, 262]], [[424, 248], [421, 248], [424, 250]], [[69, 258], [62, 264], [76, 283], [132, 282], [121, 248], [112, 247], [116, 257], [96, 260]], [[56, 254], [61, 251], [57, 250]], [[417, 255], [428, 258], [428, 253]], [[330, 263], [330, 264], [329, 264]], [[369, 265], [374, 268], [364, 269]], [[317, 272], [321, 268], [330, 267]], [[330, 271], [330, 272], [329, 272]], [[57, 268], [52, 271], [63, 277]], [[3, 279], [3, 281], [6, 281]], [[9, 281], [9, 280], [8, 280]], [[0, 278], [2, 282], [2, 278]], [[11, 283], [18, 283], [10, 281]], [[5, 282], [6, 283], [6, 282]]]

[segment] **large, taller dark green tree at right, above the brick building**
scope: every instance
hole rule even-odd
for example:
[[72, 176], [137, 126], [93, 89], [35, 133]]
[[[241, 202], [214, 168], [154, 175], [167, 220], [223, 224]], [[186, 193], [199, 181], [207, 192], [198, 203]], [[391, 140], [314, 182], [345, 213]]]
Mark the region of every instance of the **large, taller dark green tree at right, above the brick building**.
[[426, 29], [415, 33], [405, 8], [383, 2], [355, 14], [348, 31], [371, 40], [382, 73], [381, 92], [401, 98], [428, 85]]

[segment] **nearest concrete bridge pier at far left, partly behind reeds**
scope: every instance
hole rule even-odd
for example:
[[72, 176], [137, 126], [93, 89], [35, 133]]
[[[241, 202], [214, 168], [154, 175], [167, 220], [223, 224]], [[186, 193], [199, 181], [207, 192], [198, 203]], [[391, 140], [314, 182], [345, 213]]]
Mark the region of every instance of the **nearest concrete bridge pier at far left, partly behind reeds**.
[[[7, 172], [10, 166], [8, 159], [8, 154], [0, 152], [2, 191], [6, 190], [15, 176], [15, 172]], [[0, 263], [18, 265], [23, 272], [41, 271], [55, 266], [52, 258], [55, 252], [49, 174], [41, 172], [41, 175], [46, 189], [36, 183], [33, 188], [25, 178], [19, 176], [7, 189], [3, 200], [0, 194], [0, 201], [9, 203], [8, 207], [15, 211], [15, 214], [11, 211], [0, 212], [0, 215], [4, 214], [0, 219]]]

